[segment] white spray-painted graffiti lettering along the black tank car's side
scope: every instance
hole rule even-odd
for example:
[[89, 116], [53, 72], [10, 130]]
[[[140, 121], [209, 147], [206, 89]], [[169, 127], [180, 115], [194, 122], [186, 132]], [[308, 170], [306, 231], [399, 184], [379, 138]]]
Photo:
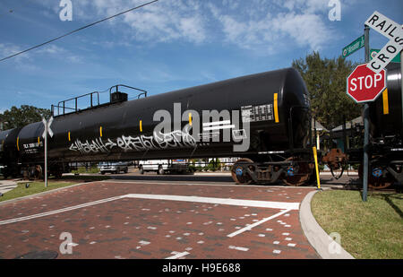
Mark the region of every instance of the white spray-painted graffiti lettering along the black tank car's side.
[[189, 134], [190, 127], [184, 130], [176, 130], [167, 134], [154, 132], [152, 136], [126, 136], [122, 135], [116, 138], [116, 141], [107, 139], [107, 143], [102, 138], [95, 140], [86, 140], [82, 143], [79, 139], [75, 140], [70, 146], [71, 151], [80, 151], [81, 153], [99, 153], [109, 152], [114, 148], [120, 148], [123, 151], [146, 151], [159, 150], [167, 148], [187, 148], [196, 146], [196, 140]]

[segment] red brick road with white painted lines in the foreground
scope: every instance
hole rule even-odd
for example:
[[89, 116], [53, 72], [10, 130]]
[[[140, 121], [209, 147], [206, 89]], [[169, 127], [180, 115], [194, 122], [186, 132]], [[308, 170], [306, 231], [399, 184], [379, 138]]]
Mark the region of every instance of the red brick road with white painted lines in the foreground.
[[[141, 194], [300, 203], [312, 189], [146, 181], [67, 187], [0, 205], [0, 258], [43, 250], [58, 252], [57, 258], [319, 258], [304, 237], [298, 210], [131, 197], [110, 199]], [[77, 207], [84, 203], [89, 204]], [[66, 211], [56, 211], [64, 208]], [[51, 214], [39, 217], [43, 212]], [[283, 213], [268, 220], [279, 212]], [[24, 220], [30, 215], [33, 217]], [[267, 221], [260, 223], [263, 219]], [[244, 230], [248, 224], [257, 226]], [[59, 251], [65, 242], [60, 238], [64, 232], [72, 235], [73, 254], [62, 255]]]

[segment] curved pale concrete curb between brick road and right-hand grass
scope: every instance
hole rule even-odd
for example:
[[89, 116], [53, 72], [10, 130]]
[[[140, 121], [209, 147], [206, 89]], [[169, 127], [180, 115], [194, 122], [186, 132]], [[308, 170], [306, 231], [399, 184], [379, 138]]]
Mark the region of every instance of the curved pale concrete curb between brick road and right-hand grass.
[[311, 211], [311, 200], [317, 192], [313, 191], [306, 195], [300, 206], [299, 221], [305, 237], [308, 238], [309, 243], [322, 259], [354, 259], [343, 247], [330, 238], [314, 219]]

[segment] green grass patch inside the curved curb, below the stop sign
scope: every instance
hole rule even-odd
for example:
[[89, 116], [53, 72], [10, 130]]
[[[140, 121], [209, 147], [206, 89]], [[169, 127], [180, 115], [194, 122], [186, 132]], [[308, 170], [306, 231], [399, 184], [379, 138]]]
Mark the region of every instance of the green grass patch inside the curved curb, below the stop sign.
[[403, 258], [403, 195], [330, 190], [314, 195], [313, 216], [328, 234], [338, 232], [341, 246], [359, 259]]

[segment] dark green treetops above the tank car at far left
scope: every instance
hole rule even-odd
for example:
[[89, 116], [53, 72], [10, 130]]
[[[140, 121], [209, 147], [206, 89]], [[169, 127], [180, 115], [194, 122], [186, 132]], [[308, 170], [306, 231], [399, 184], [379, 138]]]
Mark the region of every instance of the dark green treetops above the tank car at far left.
[[34, 122], [39, 122], [42, 117], [50, 118], [51, 112], [47, 108], [36, 108], [22, 105], [21, 108], [13, 106], [10, 110], [5, 110], [0, 114], [0, 121], [4, 124], [4, 130], [27, 126]]

